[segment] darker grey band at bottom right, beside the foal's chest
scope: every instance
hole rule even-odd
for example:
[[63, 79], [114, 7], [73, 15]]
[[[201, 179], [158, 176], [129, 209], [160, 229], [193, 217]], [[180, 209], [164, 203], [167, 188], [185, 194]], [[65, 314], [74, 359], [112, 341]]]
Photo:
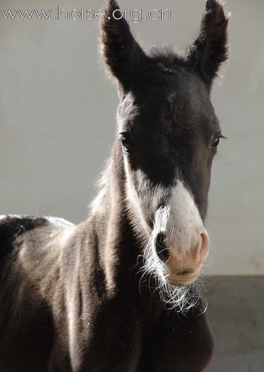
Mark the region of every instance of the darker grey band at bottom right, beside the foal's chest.
[[206, 372], [264, 372], [264, 277], [212, 277], [208, 284], [215, 354]]

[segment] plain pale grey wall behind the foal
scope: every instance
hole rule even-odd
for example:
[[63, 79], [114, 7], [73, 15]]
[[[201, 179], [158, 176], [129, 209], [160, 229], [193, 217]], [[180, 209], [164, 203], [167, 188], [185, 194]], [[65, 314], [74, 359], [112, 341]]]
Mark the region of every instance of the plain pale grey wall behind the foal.
[[[1, 0], [20, 7], [101, 8], [101, 1]], [[120, 0], [169, 8], [171, 20], [132, 24], [143, 46], [181, 49], [196, 35], [203, 0]], [[207, 228], [212, 274], [264, 274], [264, 2], [227, 0], [230, 60], [212, 102], [222, 140], [212, 168]], [[116, 87], [98, 57], [98, 20], [4, 20], [0, 14], [0, 214], [86, 218], [115, 130]]]

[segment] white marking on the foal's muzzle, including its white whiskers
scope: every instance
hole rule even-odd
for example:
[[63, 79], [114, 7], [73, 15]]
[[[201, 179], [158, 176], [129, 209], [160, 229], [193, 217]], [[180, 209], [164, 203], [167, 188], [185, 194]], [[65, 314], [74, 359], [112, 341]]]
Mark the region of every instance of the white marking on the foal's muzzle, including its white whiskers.
[[[161, 206], [155, 213], [154, 227], [144, 249], [142, 267], [142, 279], [144, 275], [151, 274], [156, 279], [157, 290], [169, 308], [178, 311], [186, 311], [195, 306], [199, 301], [201, 283], [193, 280], [185, 280], [185, 286], [175, 285], [168, 281], [170, 270], [185, 270], [199, 268], [202, 263], [196, 260], [200, 254], [202, 240], [200, 232], [207, 235], [191, 192], [183, 182], [177, 180], [177, 184], [171, 190], [170, 198], [166, 205]], [[169, 249], [175, 261], [163, 262], [159, 259], [156, 251], [156, 238], [163, 233], [166, 241], [164, 246]], [[208, 241], [207, 241], [208, 243]], [[206, 239], [205, 239], [205, 245]], [[206, 248], [203, 248], [206, 250]], [[206, 253], [206, 252], [205, 252]], [[206, 254], [202, 257], [205, 259]], [[201, 255], [200, 255], [201, 257]], [[192, 291], [190, 288], [192, 287]]]

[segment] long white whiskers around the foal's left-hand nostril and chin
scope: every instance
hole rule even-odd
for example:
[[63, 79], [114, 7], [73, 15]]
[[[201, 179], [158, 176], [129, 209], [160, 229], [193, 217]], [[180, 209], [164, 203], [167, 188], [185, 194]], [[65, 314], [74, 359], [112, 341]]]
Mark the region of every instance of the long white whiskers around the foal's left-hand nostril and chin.
[[[168, 275], [166, 274], [167, 267], [157, 255], [156, 238], [158, 233], [165, 232], [168, 216], [168, 206], [160, 207], [156, 212], [153, 230], [141, 256], [143, 258], [143, 266], [140, 269], [140, 272], [142, 272], [140, 283], [145, 276], [149, 277], [151, 275], [155, 278], [156, 282], [154, 291], [157, 290], [159, 292], [161, 300], [166, 304], [166, 308], [174, 309], [177, 312], [186, 312], [192, 307], [199, 305], [199, 299], [202, 297], [201, 288], [203, 287], [203, 281], [202, 278], [198, 278], [195, 283], [177, 287], [166, 279]], [[172, 229], [173, 226], [171, 227], [171, 231]]]

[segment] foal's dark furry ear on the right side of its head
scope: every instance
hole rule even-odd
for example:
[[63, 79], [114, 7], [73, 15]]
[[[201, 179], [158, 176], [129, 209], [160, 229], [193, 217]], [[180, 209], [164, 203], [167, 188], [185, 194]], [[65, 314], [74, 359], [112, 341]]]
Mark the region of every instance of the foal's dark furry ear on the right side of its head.
[[220, 64], [228, 58], [227, 25], [228, 16], [219, 0], [206, 0], [198, 38], [190, 46], [187, 59], [209, 85]]

